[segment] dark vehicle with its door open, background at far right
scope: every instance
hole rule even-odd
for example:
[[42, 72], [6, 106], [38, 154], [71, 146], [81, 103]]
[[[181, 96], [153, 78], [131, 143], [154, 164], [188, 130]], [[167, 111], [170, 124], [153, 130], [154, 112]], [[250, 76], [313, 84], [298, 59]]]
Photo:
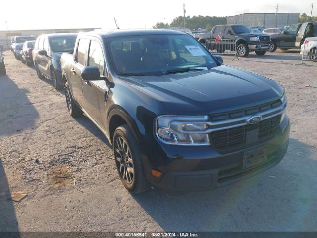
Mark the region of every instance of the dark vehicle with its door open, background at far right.
[[307, 37], [317, 36], [317, 22], [304, 22], [293, 24], [283, 31], [283, 34], [270, 35], [272, 44], [269, 47], [270, 52], [277, 48], [288, 50], [300, 48]]

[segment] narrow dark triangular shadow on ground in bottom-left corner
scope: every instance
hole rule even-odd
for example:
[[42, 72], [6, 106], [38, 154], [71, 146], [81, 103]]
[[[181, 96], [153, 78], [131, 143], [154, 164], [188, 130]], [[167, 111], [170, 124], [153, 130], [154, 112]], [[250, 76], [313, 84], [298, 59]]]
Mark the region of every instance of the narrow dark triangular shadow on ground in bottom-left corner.
[[[16, 219], [10, 188], [0, 158], [0, 232], [17, 232], [19, 225]], [[3, 234], [2, 234], [3, 235]], [[17, 234], [15, 234], [16, 237]], [[0, 233], [1, 237], [1, 233]]]

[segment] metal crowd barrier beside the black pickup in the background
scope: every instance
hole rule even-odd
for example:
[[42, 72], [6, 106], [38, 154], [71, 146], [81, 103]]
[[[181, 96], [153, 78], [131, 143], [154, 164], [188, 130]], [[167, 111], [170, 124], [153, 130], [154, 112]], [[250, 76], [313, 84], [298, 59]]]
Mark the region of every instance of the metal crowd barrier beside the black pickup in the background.
[[233, 59], [238, 59], [236, 39], [206, 40], [205, 46], [213, 54], [234, 55]]

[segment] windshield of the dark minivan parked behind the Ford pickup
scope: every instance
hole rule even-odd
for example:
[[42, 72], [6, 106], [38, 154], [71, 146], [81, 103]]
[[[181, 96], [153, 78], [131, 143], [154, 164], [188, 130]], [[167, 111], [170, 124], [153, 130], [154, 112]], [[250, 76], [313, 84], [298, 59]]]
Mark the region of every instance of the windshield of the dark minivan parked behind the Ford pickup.
[[50, 37], [50, 47], [53, 52], [73, 52], [77, 35]]

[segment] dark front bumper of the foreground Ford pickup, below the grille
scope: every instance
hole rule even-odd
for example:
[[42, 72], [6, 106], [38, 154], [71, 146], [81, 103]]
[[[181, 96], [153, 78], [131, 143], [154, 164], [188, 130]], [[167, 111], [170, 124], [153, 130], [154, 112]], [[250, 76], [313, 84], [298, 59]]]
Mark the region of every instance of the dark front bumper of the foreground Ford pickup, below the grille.
[[[211, 146], [155, 143], [155, 138], [141, 142], [140, 148], [146, 176], [152, 186], [169, 191], [208, 190], [254, 176], [277, 165], [286, 153], [289, 132], [290, 123], [285, 117], [279, 132], [271, 140], [227, 154]], [[243, 169], [244, 153], [264, 146], [268, 160]], [[152, 176], [151, 169], [159, 170], [162, 176]]]

